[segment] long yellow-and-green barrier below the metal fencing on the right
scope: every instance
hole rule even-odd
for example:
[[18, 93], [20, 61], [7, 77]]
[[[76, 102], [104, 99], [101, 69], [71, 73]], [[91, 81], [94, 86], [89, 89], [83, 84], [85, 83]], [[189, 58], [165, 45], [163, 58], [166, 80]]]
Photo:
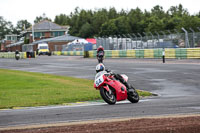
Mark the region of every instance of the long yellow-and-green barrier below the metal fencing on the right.
[[[164, 49], [165, 58], [200, 58], [200, 48]], [[132, 50], [105, 50], [106, 58], [131, 57], [131, 58], [162, 58], [163, 49], [132, 49]], [[89, 51], [88, 57], [96, 57], [96, 51]]]

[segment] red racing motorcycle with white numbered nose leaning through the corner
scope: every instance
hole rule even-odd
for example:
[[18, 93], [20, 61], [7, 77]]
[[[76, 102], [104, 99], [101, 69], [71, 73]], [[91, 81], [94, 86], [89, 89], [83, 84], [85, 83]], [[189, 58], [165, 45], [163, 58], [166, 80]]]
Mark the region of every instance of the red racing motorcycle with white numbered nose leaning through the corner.
[[[128, 77], [125, 74], [121, 74], [121, 76], [126, 82], [128, 81]], [[127, 89], [124, 84], [115, 79], [112, 73], [106, 71], [101, 71], [96, 74], [94, 88], [100, 90], [101, 97], [110, 105], [115, 104], [116, 101], [126, 99], [131, 103], [139, 102], [139, 95], [133, 86], [130, 85], [130, 88]]]

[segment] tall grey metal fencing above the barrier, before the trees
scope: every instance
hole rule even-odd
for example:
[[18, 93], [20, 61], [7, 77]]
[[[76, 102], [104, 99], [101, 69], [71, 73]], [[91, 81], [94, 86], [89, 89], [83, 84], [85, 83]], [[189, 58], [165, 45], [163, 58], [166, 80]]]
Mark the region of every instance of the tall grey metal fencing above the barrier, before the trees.
[[[140, 33], [126, 34], [111, 37], [98, 37], [97, 47], [100, 45], [105, 50], [127, 50], [127, 49], [153, 49], [153, 48], [195, 48], [200, 47], [200, 32], [194, 30], [187, 31], [182, 28], [185, 33], [168, 33], [161, 31], [152, 34]], [[190, 33], [189, 33], [190, 32]]]

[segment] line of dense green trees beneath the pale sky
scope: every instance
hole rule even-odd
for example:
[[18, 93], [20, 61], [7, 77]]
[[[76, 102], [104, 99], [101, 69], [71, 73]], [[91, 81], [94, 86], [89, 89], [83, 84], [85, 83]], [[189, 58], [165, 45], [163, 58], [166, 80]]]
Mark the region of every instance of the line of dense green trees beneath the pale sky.
[[[43, 14], [43, 16], [36, 17], [34, 22], [37, 23], [44, 19], [51, 21]], [[155, 33], [166, 30], [175, 32], [174, 29], [182, 32], [182, 27], [198, 31], [200, 12], [191, 15], [181, 4], [171, 6], [167, 11], [164, 11], [163, 7], [159, 5], [150, 11], [142, 11], [140, 8], [117, 11], [114, 7], [85, 10], [77, 7], [70, 15], [55, 16], [53, 22], [59, 25], [69, 25], [70, 35], [83, 38], [120, 36], [128, 33], [144, 35], [148, 32]], [[17, 26], [13, 27], [11, 22], [6, 22], [3, 17], [0, 17], [0, 37], [2, 38], [5, 33], [19, 34], [30, 25], [27, 20], [20, 20]]]

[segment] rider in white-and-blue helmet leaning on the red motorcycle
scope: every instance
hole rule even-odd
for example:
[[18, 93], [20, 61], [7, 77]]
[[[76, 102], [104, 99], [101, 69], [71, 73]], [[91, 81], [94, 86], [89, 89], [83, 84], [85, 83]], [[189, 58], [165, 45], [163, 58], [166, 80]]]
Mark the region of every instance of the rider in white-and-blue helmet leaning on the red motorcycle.
[[126, 86], [127, 91], [131, 88], [120, 74], [116, 74], [116, 73], [111, 72], [110, 70], [106, 70], [105, 66], [102, 63], [96, 66], [96, 73], [101, 72], [101, 71], [106, 71], [107, 73], [112, 74], [115, 77], [115, 79], [119, 80], [122, 84]]

